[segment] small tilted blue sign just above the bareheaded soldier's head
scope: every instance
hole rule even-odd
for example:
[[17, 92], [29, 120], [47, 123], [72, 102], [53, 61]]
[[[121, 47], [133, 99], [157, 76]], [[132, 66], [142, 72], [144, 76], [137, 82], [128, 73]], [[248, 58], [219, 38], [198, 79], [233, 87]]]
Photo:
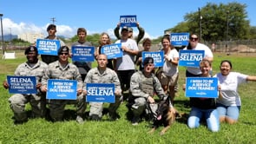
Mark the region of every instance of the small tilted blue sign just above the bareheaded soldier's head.
[[114, 43], [102, 46], [101, 54], [108, 56], [108, 59], [117, 58], [123, 56], [121, 49], [121, 43]]

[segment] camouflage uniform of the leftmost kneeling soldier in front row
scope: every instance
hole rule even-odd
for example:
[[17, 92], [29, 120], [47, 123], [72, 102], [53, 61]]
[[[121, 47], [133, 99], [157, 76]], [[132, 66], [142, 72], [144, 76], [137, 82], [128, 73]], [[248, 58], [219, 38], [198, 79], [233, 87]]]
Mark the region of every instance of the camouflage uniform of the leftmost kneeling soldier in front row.
[[[41, 82], [44, 75], [44, 70], [47, 69], [47, 64], [41, 61], [31, 67], [28, 62], [20, 64], [15, 74], [16, 76], [36, 76], [36, 83]], [[16, 121], [26, 121], [27, 115], [25, 112], [25, 104], [30, 102], [32, 117], [44, 117], [46, 113], [45, 93], [37, 89], [37, 94], [15, 94], [9, 98], [10, 108], [12, 109]]]

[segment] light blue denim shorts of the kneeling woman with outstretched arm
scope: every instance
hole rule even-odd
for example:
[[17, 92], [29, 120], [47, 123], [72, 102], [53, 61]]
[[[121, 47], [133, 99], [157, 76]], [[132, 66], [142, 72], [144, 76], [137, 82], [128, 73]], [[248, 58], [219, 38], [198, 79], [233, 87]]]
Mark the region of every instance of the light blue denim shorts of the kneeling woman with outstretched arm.
[[225, 106], [223, 104], [217, 103], [217, 110], [220, 117], [226, 116], [235, 121], [239, 119], [240, 106]]

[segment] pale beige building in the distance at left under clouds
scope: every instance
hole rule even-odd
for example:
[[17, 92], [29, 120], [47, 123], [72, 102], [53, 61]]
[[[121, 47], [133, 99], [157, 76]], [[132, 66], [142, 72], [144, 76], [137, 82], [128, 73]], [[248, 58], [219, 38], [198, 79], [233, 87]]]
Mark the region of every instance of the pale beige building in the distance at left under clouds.
[[43, 39], [44, 36], [43, 33], [24, 33], [22, 35], [18, 35], [17, 38], [29, 43], [36, 43], [36, 39]]

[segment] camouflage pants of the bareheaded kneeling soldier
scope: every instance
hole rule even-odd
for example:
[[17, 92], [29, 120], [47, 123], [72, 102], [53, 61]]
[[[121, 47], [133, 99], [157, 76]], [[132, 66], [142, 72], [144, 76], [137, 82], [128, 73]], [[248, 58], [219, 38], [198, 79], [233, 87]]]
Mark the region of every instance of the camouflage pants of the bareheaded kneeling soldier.
[[[121, 104], [121, 97], [115, 96], [115, 103], [110, 103], [108, 107], [109, 115], [115, 115], [117, 108], [119, 108]], [[98, 115], [102, 117], [102, 110], [103, 110], [103, 102], [89, 102], [89, 116], [91, 115]]]

